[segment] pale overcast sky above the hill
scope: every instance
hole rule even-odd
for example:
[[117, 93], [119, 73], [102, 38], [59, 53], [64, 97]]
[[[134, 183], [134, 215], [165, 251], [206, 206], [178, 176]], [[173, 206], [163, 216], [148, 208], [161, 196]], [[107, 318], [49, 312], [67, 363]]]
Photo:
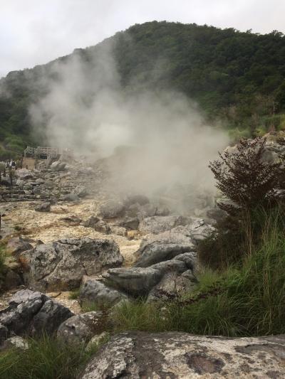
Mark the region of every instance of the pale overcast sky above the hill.
[[134, 23], [179, 21], [285, 33], [285, 0], [0, 0], [0, 77]]

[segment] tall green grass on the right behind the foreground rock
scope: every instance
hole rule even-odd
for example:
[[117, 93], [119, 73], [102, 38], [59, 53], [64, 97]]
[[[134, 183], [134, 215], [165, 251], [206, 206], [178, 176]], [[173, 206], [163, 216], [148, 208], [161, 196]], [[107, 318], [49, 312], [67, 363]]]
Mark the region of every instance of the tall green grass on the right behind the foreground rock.
[[[200, 272], [195, 292], [180, 301], [124, 304], [115, 311], [118, 329], [224, 336], [285, 333], [283, 213], [258, 213], [254, 223], [258, 220], [259, 240], [248, 234], [249, 250], [242, 264], [222, 272]], [[253, 225], [252, 230], [257, 228]]]

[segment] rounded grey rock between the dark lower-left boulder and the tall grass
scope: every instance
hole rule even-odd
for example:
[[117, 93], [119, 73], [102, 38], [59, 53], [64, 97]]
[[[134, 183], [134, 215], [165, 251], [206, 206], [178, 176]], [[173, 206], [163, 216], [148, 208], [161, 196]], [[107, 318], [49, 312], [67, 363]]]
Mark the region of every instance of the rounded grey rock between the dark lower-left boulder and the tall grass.
[[95, 334], [103, 331], [105, 315], [101, 311], [77, 314], [63, 321], [58, 328], [57, 336], [65, 343], [88, 342]]

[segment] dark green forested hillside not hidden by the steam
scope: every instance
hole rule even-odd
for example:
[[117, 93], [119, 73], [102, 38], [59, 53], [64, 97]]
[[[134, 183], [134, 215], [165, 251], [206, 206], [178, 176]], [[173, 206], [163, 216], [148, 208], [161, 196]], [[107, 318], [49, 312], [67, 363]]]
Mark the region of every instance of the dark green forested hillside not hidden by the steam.
[[[285, 129], [285, 37], [233, 28], [149, 22], [116, 33], [97, 46], [76, 49], [86, 68], [113, 42], [113, 56], [125, 92], [174, 89], [196, 100], [210, 121], [239, 135]], [[29, 106], [57, 80], [56, 64], [14, 71], [0, 80], [0, 157], [36, 143]], [[43, 141], [41, 141], [43, 142]]]

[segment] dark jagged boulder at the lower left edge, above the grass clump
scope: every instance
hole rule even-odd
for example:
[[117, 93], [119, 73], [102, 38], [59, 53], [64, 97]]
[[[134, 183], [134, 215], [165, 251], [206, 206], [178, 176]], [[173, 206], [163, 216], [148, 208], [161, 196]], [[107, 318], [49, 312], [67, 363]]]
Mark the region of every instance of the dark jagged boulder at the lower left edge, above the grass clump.
[[36, 336], [43, 331], [51, 334], [71, 316], [73, 313], [68, 308], [45, 294], [23, 289], [0, 311], [0, 329], [8, 331], [7, 338], [14, 334]]

